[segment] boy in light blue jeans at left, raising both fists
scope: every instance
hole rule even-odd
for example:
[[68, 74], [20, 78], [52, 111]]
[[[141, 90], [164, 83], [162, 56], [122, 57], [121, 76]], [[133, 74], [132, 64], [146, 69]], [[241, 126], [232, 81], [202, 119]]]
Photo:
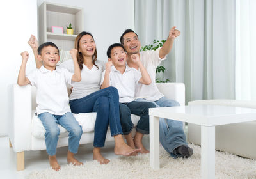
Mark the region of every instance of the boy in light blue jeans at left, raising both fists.
[[60, 134], [57, 124], [69, 132], [67, 162], [74, 165], [83, 164], [74, 158], [83, 131], [70, 112], [66, 87], [66, 83], [81, 81], [81, 72], [76, 58], [77, 50], [72, 49], [70, 54], [74, 60], [74, 74], [64, 68], [56, 67], [60, 61], [59, 49], [54, 43], [45, 42], [38, 47], [38, 59], [43, 62], [43, 66], [25, 75], [29, 54], [22, 52], [22, 64], [18, 76], [20, 86], [31, 84], [37, 88], [36, 113], [45, 128], [45, 144], [50, 166], [56, 171], [60, 169], [56, 159], [57, 141]]

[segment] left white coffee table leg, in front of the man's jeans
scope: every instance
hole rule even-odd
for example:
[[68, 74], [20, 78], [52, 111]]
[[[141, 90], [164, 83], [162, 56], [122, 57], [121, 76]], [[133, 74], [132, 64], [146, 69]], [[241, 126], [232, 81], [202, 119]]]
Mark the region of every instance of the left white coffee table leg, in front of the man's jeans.
[[150, 138], [150, 166], [152, 169], [159, 169], [159, 118], [149, 118]]

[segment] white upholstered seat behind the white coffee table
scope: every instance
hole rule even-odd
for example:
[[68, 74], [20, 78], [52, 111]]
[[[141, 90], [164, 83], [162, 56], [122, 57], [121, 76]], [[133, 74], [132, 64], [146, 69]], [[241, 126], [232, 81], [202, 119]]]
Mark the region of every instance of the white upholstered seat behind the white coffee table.
[[[189, 102], [188, 105], [225, 105], [256, 108], [256, 102], [241, 100], [196, 100]], [[256, 159], [256, 119], [245, 123], [216, 126], [215, 137], [216, 150]], [[188, 141], [201, 144], [199, 125], [188, 123]]]

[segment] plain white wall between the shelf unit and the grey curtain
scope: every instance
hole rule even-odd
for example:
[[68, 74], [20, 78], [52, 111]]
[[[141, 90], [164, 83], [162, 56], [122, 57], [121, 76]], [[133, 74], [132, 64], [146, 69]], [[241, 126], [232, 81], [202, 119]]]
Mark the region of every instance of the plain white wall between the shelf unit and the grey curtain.
[[[44, 0], [38, 0], [40, 6]], [[92, 33], [98, 59], [107, 61], [107, 49], [120, 43], [125, 29], [134, 29], [134, 0], [47, 0], [50, 3], [81, 7], [84, 10], [84, 31]]]

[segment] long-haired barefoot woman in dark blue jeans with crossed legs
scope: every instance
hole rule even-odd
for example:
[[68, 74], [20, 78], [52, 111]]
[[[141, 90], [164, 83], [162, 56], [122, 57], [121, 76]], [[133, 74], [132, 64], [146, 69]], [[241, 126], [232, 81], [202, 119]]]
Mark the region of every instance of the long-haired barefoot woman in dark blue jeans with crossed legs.
[[[31, 35], [29, 45], [32, 47], [36, 68], [40, 68], [42, 63], [37, 60], [37, 40]], [[122, 127], [119, 115], [119, 96], [116, 88], [109, 87], [100, 90], [101, 73], [104, 71], [104, 62], [97, 61], [97, 50], [94, 38], [91, 33], [81, 32], [75, 41], [77, 49], [77, 61], [81, 69], [82, 80], [74, 82], [70, 95], [70, 109], [72, 113], [97, 112], [95, 121], [95, 135], [93, 141], [93, 159], [100, 164], [107, 164], [108, 159], [100, 153], [100, 148], [104, 146], [108, 125], [110, 126], [111, 136], [115, 138], [116, 155], [137, 155], [138, 149], [128, 146], [122, 137]], [[71, 72], [74, 70], [72, 60], [65, 61], [60, 65]]]

